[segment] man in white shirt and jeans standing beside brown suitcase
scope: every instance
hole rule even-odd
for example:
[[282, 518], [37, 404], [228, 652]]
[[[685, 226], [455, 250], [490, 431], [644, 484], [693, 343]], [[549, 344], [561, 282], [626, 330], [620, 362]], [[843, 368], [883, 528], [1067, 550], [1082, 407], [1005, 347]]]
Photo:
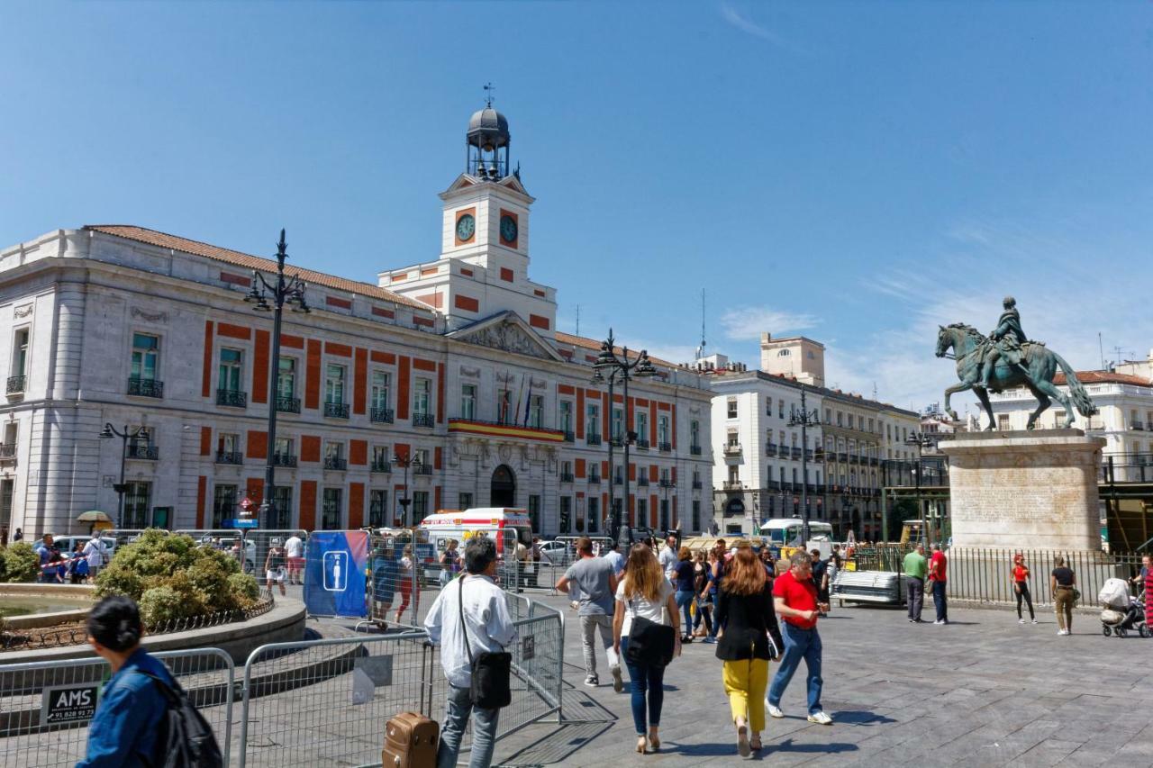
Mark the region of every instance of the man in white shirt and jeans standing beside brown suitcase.
[[504, 592], [492, 581], [497, 573], [496, 542], [488, 536], [469, 539], [465, 544], [465, 575], [440, 589], [424, 618], [429, 640], [440, 646], [440, 665], [449, 680], [449, 703], [437, 748], [437, 768], [457, 765], [469, 715], [473, 717], [473, 748], [468, 766], [488, 768], [492, 762], [500, 710], [473, 707], [469, 697], [473, 670], [468, 649], [472, 649], [473, 657], [485, 652], [499, 653], [518, 639]]

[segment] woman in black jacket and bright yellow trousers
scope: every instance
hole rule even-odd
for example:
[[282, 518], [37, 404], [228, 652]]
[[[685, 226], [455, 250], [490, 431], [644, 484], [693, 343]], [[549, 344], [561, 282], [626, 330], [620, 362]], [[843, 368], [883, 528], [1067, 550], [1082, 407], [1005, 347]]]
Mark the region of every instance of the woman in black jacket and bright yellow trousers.
[[747, 758], [762, 746], [769, 660], [784, 647], [773, 609], [773, 582], [748, 545], [740, 547], [729, 563], [715, 618], [724, 632], [717, 641], [717, 658], [724, 661], [737, 752]]

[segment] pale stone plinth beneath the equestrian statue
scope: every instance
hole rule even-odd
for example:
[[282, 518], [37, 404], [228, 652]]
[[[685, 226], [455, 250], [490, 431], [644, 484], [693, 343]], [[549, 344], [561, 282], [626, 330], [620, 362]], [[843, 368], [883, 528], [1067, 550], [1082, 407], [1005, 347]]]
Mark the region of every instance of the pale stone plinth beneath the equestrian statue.
[[949, 457], [954, 547], [1100, 550], [1105, 439], [1079, 429], [963, 432]]

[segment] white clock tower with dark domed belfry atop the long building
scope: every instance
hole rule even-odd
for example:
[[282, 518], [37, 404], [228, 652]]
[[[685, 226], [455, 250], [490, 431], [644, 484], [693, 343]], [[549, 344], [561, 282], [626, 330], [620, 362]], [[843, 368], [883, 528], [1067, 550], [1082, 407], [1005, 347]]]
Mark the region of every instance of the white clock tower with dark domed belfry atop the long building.
[[440, 193], [440, 257], [379, 273], [379, 285], [443, 313], [450, 331], [513, 311], [537, 333], [556, 333], [556, 289], [528, 279], [529, 209], [510, 168], [508, 121], [491, 99], [465, 134], [465, 172]]

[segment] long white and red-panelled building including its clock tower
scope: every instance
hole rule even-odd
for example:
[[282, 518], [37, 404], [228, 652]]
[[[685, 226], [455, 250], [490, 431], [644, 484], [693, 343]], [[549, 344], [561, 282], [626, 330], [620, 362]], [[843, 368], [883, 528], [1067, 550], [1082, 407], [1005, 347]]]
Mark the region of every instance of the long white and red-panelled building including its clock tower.
[[[477, 112], [465, 173], [442, 194], [439, 258], [359, 283], [296, 266], [310, 315], [285, 311], [270, 393], [267, 313], [244, 296], [276, 263], [135, 226], [59, 229], [0, 250], [0, 527], [85, 532], [85, 510], [120, 527], [210, 528], [259, 503], [270, 396], [278, 413], [276, 505], [266, 528], [356, 528], [436, 509], [527, 507], [545, 535], [604, 533], [605, 436], [639, 432], [638, 524], [710, 522], [711, 394], [654, 360], [615, 407], [589, 384], [600, 342], [556, 330], [556, 289], [528, 278], [533, 198], [510, 172], [507, 122]], [[642, 445], [643, 444], [643, 445]], [[400, 459], [400, 461], [394, 461]], [[412, 461], [406, 473], [401, 465]], [[616, 453], [618, 466], [620, 451]]]

